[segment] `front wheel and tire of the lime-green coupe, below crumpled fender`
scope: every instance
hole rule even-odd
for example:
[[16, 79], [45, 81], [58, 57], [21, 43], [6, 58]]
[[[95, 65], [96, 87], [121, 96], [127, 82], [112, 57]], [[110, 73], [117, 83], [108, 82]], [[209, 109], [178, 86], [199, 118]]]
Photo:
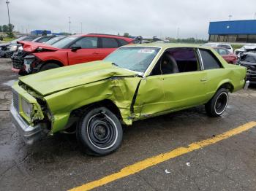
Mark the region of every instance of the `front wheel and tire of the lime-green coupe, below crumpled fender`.
[[121, 122], [105, 107], [88, 109], [80, 118], [77, 139], [88, 155], [108, 155], [114, 152], [123, 139]]

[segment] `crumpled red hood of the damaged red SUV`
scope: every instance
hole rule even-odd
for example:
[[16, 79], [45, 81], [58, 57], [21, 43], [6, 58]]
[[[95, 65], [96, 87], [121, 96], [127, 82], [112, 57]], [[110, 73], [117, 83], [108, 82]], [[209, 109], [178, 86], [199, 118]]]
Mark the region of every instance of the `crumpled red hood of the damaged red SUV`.
[[19, 44], [22, 44], [23, 50], [25, 52], [34, 52], [38, 48], [40, 50], [49, 50], [49, 51], [56, 51], [59, 48], [52, 47], [49, 44], [39, 43], [39, 42], [25, 42], [25, 41], [18, 41]]

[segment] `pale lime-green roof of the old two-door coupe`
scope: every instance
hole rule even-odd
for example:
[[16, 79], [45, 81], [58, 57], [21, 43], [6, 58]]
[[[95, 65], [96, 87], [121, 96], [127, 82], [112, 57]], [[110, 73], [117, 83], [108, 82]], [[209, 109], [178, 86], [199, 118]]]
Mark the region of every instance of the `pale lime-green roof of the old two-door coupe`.
[[145, 44], [127, 44], [124, 47], [159, 47], [163, 49], [175, 48], [175, 47], [193, 47], [193, 48], [204, 48], [211, 50], [211, 47], [204, 46], [201, 44], [180, 44], [180, 43], [145, 43]]

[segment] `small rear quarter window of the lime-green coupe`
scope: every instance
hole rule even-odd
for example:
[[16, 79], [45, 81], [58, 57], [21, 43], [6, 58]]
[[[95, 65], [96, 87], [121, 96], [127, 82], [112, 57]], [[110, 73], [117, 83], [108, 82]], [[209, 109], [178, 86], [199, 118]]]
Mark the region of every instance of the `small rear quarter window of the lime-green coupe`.
[[219, 63], [218, 58], [216, 58], [216, 56], [211, 52], [211, 50], [200, 49], [200, 55], [203, 60], [203, 68], [205, 70], [219, 69], [222, 67], [221, 63]]

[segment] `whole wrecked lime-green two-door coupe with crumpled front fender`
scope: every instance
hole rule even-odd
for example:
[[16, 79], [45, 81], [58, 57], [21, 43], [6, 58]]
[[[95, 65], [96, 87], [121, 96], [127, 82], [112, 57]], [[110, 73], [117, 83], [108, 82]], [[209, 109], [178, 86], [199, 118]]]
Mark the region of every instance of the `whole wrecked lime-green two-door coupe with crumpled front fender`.
[[10, 112], [29, 144], [76, 127], [83, 151], [108, 155], [121, 144], [122, 124], [203, 104], [218, 117], [245, 77], [245, 67], [210, 47], [127, 45], [103, 61], [20, 77]]

